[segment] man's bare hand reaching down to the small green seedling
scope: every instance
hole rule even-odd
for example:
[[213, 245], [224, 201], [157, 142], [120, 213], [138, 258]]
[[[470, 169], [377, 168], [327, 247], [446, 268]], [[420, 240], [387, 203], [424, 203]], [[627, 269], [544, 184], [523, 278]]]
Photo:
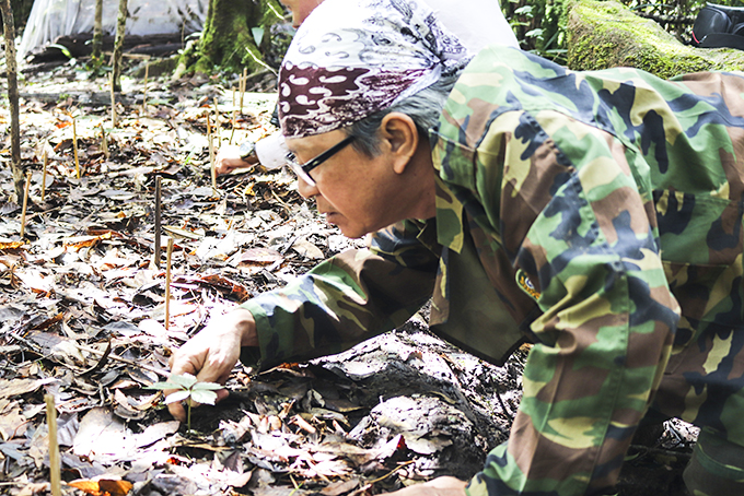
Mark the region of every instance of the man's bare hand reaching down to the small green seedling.
[[[236, 308], [211, 319], [198, 334], [188, 340], [171, 356], [171, 375], [185, 373], [196, 376], [199, 382], [224, 385], [241, 356], [242, 346], [257, 346], [256, 322], [253, 315]], [[165, 390], [165, 395], [175, 390]], [[217, 401], [228, 397], [228, 391], [217, 391]], [[194, 405], [194, 404], [193, 404]], [[171, 415], [184, 422], [186, 411], [181, 402], [167, 406]]]

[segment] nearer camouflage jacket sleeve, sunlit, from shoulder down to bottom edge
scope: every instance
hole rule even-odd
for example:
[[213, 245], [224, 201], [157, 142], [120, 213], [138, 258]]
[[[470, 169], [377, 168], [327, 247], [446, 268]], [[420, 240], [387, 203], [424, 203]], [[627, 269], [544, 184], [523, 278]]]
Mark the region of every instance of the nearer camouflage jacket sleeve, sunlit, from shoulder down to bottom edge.
[[485, 205], [481, 219], [498, 219], [543, 315], [510, 438], [468, 494], [614, 494], [678, 319], [648, 166], [611, 134], [555, 111], [502, 114], [475, 160], [474, 202]]

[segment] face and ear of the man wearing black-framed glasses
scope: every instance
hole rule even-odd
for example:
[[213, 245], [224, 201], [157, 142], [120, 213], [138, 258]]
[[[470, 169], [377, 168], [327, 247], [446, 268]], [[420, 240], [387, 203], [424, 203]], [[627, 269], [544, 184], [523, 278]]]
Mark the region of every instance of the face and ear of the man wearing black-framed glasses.
[[[347, 144], [310, 172], [314, 185], [299, 179], [298, 190], [315, 199], [317, 211], [352, 238], [380, 231], [404, 219], [434, 215], [434, 169], [428, 142], [416, 125], [393, 113], [383, 121], [380, 154], [369, 157]], [[347, 138], [335, 130], [292, 138], [287, 145], [299, 164], [327, 152]]]

